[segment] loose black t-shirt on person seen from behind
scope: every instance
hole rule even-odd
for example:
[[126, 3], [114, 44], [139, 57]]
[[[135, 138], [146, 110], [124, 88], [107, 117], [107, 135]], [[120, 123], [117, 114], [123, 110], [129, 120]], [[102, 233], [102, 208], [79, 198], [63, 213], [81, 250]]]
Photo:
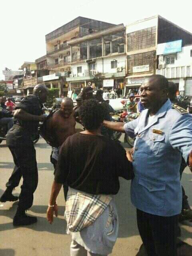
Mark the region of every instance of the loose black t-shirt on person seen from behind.
[[132, 163], [122, 146], [106, 136], [77, 133], [60, 148], [57, 183], [90, 194], [117, 194], [118, 177], [133, 177]]

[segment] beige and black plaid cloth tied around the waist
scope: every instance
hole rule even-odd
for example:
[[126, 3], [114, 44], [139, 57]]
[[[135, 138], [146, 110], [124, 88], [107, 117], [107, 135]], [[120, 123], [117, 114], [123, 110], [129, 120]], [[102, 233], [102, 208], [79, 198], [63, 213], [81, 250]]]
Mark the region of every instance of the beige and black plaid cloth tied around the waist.
[[[110, 195], [92, 195], [69, 187], [65, 208], [67, 231], [79, 232], [91, 225], [111, 200]], [[109, 216], [108, 225], [111, 220], [112, 216]]]

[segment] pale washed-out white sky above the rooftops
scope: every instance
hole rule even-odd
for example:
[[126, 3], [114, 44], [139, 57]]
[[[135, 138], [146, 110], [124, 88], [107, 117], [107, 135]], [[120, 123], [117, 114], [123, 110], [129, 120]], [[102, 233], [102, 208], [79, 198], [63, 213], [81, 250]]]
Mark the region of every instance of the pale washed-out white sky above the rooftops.
[[127, 25], [159, 14], [192, 33], [191, 0], [2, 0], [0, 10], [0, 80], [45, 55], [45, 35], [78, 16]]

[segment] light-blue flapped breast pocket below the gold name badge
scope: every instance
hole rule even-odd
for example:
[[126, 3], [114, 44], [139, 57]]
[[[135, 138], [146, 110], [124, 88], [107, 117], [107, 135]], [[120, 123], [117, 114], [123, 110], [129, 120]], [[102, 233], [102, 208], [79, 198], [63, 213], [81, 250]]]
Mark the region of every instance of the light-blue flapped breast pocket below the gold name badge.
[[144, 137], [146, 143], [146, 153], [150, 155], [157, 155], [161, 148], [165, 146], [165, 135], [148, 133]]

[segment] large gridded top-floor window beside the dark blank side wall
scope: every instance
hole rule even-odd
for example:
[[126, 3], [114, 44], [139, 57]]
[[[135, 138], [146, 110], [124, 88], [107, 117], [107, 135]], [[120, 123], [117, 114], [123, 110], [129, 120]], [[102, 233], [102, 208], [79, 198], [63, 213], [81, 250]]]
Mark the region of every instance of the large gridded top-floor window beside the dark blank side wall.
[[127, 34], [128, 52], [155, 46], [156, 26]]

